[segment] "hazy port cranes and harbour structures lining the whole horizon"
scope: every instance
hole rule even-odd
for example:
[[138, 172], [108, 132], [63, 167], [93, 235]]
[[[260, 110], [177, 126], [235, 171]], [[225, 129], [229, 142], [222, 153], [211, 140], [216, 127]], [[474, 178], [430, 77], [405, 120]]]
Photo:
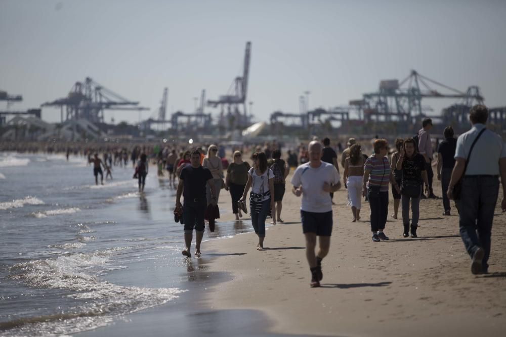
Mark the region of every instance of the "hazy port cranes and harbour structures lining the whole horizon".
[[[252, 124], [254, 116], [251, 113], [252, 102], [247, 109], [247, 90], [250, 73], [251, 42], [246, 42], [242, 60], [241, 74], [236, 76], [226, 94], [220, 95], [216, 100], [206, 101], [206, 91], [202, 89], [200, 102], [197, 106], [195, 98], [195, 111], [191, 113], [176, 111], [167, 116], [168, 88], [163, 89], [160, 106], [151, 118], [140, 121], [138, 128], [144, 134], [152, 132], [157, 126], [159, 131], [168, 131], [172, 134], [185, 134], [199, 132], [212, 134], [218, 132], [224, 135], [225, 131], [242, 130]], [[377, 91], [366, 92], [359, 100], [349, 101], [347, 106], [334, 108], [308, 109], [309, 91], [306, 97], [299, 97], [299, 112], [275, 111], [270, 116], [270, 132], [290, 134], [296, 132], [301, 135], [321, 134], [322, 131], [331, 132], [339, 130], [341, 134], [353, 133], [382, 133], [410, 134], [419, 127], [422, 119], [431, 117], [439, 126], [452, 125], [456, 132], [468, 128], [468, 115], [475, 104], [483, 104], [484, 97], [476, 85], [469, 86], [467, 90], [458, 90], [427, 76], [411, 70], [403, 80], [381, 80]], [[433, 110], [424, 106], [425, 99], [451, 99], [454, 104], [443, 109], [440, 115], [429, 114]], [[0, 91], [0, 101], [7, 102], [7, 107], [21, 102], [21, 95], [11, 95]], [[125, 99], [114, 91], [86, 77], [84, 81], [77, 81], [64, 98], [41, 104], [40, 107], [56, 107], [60, 109], [60, 123], [57, 130], [67, 130], [71, 138], [75, 134], [82, 137], [103, 135], [105, 110], [134, 110], [144, 111], [148, 108], [139, 106], [139, 102]], [[206, 112], [207, 108], [219, 108], [219, 116], [215, 117]], [[496, 131], [506, 130], [506, 107], [489, 107], [489, 122]], [[22, 117], [23, 115], [32, 117]], [[154, 116], [156, 115], [156, 116]], [[8, 116], [14, 116], [7, 121]], [[44, 129], [45, 126], [32, 118], [41, 117], [40, 109], [28, 111], [0, 111], [0, 126], [2, 125], [29, 125], [36, 124], [34, 128]], [[29, 119], [32, 119], [31, 121]], [[97, 127], [100, 126], [100, 127]], [[26, 127], [25, 127], [26, 128]], [[51, 133], [46, 127], [46, 136]]]

